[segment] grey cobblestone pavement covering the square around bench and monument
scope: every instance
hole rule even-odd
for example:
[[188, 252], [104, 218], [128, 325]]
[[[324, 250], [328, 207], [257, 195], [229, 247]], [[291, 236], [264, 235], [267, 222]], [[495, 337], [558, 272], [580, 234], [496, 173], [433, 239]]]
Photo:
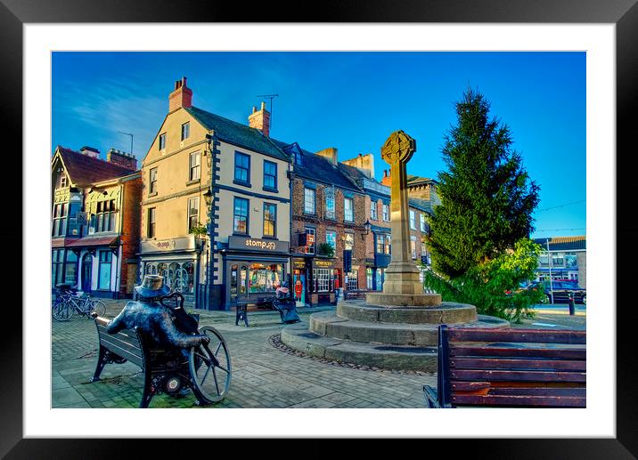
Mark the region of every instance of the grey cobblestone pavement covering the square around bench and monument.
[[[127, 301], [107, 300], [106, 316], [115, 316]], [[299, 309], [302, 321], [324, 309]], [[250, 327], [234, 326], [234, 313], [197, 311], [200, 326], [216, 327], [231, 353], [233, 381], [223, 401], [206, 408], [423, 408], [423, 384], [436, 375], [409, 375], [390, 370], [335, 366], [295, 356], [274, 347], [282, 330], [279, 313], [249, 311]], [[532, 325], [541, 323], [540, 326]], [[241, 325], [242, 323], [240, 323]], [[545, 326], [543, 326], [545, 325]], [[585, 317], [539, 313], [513, 327], [585, 328]], [[93, 376], [97, 351], [94, 321], [73, 317], [52, 320], [53, 408], [137, 408], [143, 376], [135, 365], [110, 364], [102, 380]], [[196, 408], [192, 393], [176, 399], [158, 395], [151, 408]]]

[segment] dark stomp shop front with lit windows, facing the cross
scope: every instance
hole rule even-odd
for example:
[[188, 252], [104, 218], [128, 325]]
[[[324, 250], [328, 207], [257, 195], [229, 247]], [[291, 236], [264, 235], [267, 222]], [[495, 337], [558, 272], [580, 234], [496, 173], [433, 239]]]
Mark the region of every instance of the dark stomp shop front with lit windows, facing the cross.
[[230, 310], [237, 303], [265, 303], [284, 281], [289, 282], [288, 241], [231, 236], [222, 249], [224, 304]]

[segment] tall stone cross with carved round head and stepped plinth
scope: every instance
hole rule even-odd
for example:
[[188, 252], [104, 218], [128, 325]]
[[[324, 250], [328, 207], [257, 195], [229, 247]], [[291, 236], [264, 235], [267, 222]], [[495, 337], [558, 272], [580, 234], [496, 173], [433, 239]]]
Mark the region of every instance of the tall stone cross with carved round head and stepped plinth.
[[405, 165], [416, 151], [416, 141], [403, 131], [396, 131], [381, 147], [381, 157], [390, 165], [390, 219], [392, 259], [385, 272], [383, 293], [369, 293], [368, 303], [386, 306], [434, 306], [441, 295], [425, 294], [419, 280], [420, 271], [410, 250], [409, 206]]

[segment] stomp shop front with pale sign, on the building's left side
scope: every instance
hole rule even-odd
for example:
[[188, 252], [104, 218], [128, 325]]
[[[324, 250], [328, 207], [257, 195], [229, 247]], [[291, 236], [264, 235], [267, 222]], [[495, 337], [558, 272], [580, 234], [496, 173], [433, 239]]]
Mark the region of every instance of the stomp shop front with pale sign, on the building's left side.
[[184, 295], [184, 304], [196, 304], [200, 277], [200, 252], [194, 236], [142, 241], [140, 279], [144, 275], [164, 277], [164, 283]]

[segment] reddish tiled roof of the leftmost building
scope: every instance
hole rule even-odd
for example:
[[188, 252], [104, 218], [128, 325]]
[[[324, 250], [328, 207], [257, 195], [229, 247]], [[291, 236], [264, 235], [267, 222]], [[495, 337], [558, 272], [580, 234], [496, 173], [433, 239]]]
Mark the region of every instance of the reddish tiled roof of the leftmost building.
[[135, 170], [113, 165], [100, 158], [89, 157], [66, 147], [58, 146], [57, 150], [60, 152], [71, 183], [77, 185], [90, 185], [135, 173]]

